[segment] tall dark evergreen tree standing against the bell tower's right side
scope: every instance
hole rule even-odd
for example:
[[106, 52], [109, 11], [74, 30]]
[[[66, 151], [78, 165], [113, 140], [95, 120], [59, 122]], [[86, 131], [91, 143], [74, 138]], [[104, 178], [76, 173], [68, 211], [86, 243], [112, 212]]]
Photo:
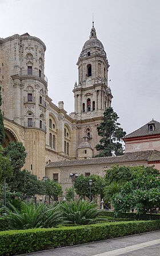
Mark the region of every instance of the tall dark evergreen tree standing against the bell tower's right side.
[[95, 157], [110, 157], [113, 154], [123, 154], [121, 142], [126, 132], [119, 127], [118, 118], [117, 113], [113, 111], [112, 107], [105, 110], [103, 122], [97, 127], [98, 135], [101, 139], [99, 144], [95, 146], [97, 151], [99, 151], [99, 154], [95, 155]]

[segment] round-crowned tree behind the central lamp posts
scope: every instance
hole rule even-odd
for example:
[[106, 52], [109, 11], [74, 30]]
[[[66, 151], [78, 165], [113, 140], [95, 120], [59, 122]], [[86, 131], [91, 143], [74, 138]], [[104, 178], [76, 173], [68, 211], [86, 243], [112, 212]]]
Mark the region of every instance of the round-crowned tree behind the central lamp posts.
[[[91, 198], [90, 198], [90, 185], [89, 180], [92, 180], [91, 185]], [[95, 195], [101, 195], [103, 193], [103, 188], [105, 186], [104, 179], [100, 177], [99, 175], [90, 175], [87, 177], [84, 177], [83, 174], [79, 175], [77, 179], [75, 179], [74, 188], [75, 192], [78, 195], [83, 195], [89, 199], [92, 199], [95, 197]]]

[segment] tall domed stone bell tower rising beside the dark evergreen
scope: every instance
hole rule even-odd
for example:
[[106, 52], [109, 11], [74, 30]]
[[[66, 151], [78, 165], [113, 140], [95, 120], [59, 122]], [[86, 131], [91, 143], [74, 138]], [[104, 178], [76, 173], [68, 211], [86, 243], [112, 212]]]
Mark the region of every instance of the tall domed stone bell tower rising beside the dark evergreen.
[[[99, 142], [97, 126], [102, 122], [103, 113], [111, 106], [113, 98], [108, 86], [109, 62], [105, 49], [97, 38], [94, 22], [89, 40], [85, 42], [79, 55], [77, 66], [78, 83], [75, 83], [73, 89], [74, 115], [78, 121], [77, 151], [78, 158], [90, 158], [91, 151], [87, 148], [92, 149], [93, 155], [97, 154], [95, 150], [95, 145]], [[89, 145], [84, 148], [83, 142], [86, 143], [86, 138]]]

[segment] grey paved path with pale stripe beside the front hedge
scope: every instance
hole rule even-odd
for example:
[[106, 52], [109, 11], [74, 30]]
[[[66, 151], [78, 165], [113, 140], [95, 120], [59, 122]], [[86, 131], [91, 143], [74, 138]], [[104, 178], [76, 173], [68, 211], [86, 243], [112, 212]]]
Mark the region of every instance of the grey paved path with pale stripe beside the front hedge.
[[68, 246], [23, 256], [159, 256], [160, 231]]

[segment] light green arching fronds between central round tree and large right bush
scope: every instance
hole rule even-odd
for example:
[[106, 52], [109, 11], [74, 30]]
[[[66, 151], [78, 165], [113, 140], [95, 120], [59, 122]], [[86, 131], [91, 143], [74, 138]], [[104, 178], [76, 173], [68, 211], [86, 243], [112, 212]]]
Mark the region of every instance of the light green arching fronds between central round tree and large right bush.
[[117, 183], [117, 182], [112, 182], [110, 183], [109, 186], [106, 186], [104, 189], [104, 199], [105, 202], [108, 203], [110, 201], [110, 198], [119, 192], [119, 190], [121, 189], [122, 184], [121, 183]]

